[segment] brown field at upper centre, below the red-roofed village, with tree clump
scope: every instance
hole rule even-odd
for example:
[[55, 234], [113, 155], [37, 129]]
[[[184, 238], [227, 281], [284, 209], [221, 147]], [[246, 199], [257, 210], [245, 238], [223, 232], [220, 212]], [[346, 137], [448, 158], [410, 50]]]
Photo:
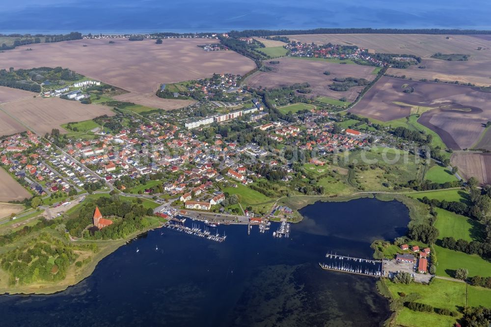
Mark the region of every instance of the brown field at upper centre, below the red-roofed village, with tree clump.
[[[270, 64], [269, 61], [265, 61], [265, 65], [273, 70], [257, 72], [249, 76], [246, 84], [252, 87], [275, 88], [308, 82], [312, 92], [305, 94], [307, 97], [326, 96], [333, 99], [345, 97], [349, 102], [352, 102], [364, 86], [355, 86], [348, 91], [337, 92], [329, 89], [333, 79], [336, 77], [364, 78], [368, 81], [375, 79], [375, 75], [371, 74], [374, 69], [372, 66], [342, 65], [293, 57], [283, 57], [277, 60], [280, 62], [279, 64]], [[329, 71], [331, 74], [325, 75], [325, 71]]]

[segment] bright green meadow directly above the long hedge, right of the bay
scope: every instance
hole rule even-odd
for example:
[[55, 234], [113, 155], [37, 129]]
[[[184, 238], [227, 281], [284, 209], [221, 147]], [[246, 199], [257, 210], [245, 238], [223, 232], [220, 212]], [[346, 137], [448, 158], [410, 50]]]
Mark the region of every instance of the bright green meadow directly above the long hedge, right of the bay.
[[456, 240], [464, 239], [468, 242], [482, 241], [485, 226], [474, 219], [457, 215], [453, 212], [436, 208], [438, 213], [435, 227], [440, 232], [439, 239], [453, 237]]

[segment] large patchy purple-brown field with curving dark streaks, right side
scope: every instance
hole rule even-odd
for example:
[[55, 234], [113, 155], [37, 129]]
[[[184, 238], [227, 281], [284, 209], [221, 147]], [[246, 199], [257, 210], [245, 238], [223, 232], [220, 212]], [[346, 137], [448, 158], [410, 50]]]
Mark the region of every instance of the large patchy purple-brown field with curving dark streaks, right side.
[[[405, 84], [413, 87], [414, 92], [405, 93]], [[410, 114], [409, 106], [395, 102], [434, 108], [424, 112], [418, 122], [435, 131], [454, 150], [472, 147], [491, 117], [491, 93], [464, 85], [415, 82], [385, 76], [351, 111], [382, 121]]]

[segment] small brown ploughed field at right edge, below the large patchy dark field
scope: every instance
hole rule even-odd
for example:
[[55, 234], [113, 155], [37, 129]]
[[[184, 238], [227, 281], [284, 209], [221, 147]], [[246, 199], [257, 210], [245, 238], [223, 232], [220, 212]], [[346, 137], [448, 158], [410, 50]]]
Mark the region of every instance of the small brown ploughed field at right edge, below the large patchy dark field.
[[491, 184], [491, 153], [454, 153], [450, 163], [465, 179], [475, 177], [481, 185]]

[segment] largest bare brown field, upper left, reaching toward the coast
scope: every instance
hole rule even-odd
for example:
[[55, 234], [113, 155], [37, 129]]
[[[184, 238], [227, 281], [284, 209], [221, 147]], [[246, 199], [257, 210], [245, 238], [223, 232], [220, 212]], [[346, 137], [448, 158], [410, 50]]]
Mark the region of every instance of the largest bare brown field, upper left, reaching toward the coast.
[[[136, 93], [155, 92], [160, 83], [182, 82], [213, 73], [245, 74], [254, 62], [233, 51], [203, 51], [212, 39], [127, 41], [77, 40], [29, 44], [0, 54], [0, 68], [62, 66]], [[26, 47], [32, 51], [25, 51]]]

